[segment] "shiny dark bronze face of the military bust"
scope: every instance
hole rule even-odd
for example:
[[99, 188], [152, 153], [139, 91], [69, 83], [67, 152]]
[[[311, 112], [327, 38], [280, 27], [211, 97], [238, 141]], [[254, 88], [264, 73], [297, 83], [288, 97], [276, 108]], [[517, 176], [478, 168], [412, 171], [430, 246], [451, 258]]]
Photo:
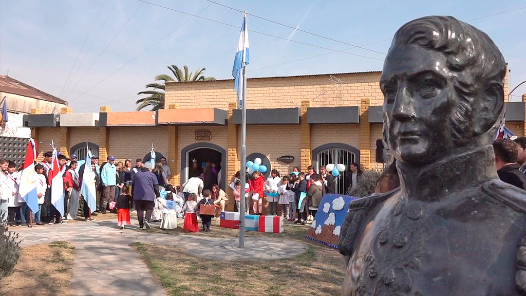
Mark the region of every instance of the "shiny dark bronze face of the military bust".
[[398, 161], [423, 165], [451, 153], [459, 102], [453, 74], [440, 52], [414, 45], [389, 51], [380, 78], [383, 129]]

